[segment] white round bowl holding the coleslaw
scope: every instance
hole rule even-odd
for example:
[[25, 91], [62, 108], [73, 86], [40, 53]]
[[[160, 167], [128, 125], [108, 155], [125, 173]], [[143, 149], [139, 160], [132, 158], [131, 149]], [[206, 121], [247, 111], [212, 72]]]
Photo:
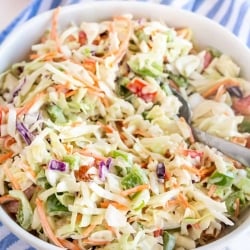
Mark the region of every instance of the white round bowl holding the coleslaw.
[[[241, 41], [217, 23], [194, 13], [172, 7], [144, 2], [94, 2], [63, 7], [59, 15], [60, 28], [66, 27], [71, 21], [100, 21], [112, 16], [131, 13], [136, 17], [148, 17], [166, 21], [169, 26], [190, 27], [199, 47], [211, 46], [230, 55], [241, 67], [244, 78], [250, 80], [250, 50]], [[52, 11], [43, 13], [25, 23], [11, 34], [0, 47], [0, 72], [12, 63], [25, 58], [31, 45], [38, 41], [43, 32], [50, 27]], [[250, 211], [249, 211], [250, 212]], [[222, 249], [225, 242], [233, 240], [237, 235], [250, 228], [250, 217], [247, 212], [239, 221], [239, 226], [231, 233], [210, 243], [200, 250]], [[0, 220], [20, 239], [37, 249], [58, 250], [60, 248], [38, 239], [18, 226], [0, 208]]]

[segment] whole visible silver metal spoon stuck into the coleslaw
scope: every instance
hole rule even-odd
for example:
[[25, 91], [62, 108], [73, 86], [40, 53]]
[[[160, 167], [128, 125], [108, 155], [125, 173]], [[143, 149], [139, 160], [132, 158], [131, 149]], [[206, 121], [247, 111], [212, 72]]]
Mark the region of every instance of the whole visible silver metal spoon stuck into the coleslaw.
[[179, 99], [182, 103], [181, 108], [179, 109], [179, 115], [185, 118], [185, 120], [190, 125], [195, 139], [201, 143], [204, 143], [210, 147], [214, 147], [221, 151], [223, 154], [235, 159], [236, 161], [242, 163], [246, 167], [250, 167], [250, 150], [235, 144], [233, 142], [224, 140], [217, 136], [211, 135], [207, 132], [204, 132], [198, 128], [191, 126], [191, 108], [185, 98], [176, 90], [171, 89], [173, 94]]

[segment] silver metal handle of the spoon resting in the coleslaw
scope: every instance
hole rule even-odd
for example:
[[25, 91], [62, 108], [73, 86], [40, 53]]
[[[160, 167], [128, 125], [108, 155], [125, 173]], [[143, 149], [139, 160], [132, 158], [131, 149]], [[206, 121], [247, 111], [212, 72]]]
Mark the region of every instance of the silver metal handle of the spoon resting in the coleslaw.
[[249, 149], [241, 145], [232, 143], [230, 141], [224, 140], [222, 138], [213, 136], [200, 129], [192, 128], [192, 130], [193, 130], [194, 137], [198, 141], [210, 147], [214, 147], [218, 149], [219, 151], [221, 151], [223, 154], [239, 161], [244, 166], [250, 167], [250, 150]]

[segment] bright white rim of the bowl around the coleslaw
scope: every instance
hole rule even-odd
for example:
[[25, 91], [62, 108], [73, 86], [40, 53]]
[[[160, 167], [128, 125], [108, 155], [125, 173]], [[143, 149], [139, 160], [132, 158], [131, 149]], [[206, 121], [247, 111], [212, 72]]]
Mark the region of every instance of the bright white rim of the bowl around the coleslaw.
[[[216, 29], [223, 32], [223, 34], [225, 34], [228, 38], [230, 38], [232, 40], [232, 42], [237, 43], [239, 46], [242, 47], [243, 51], [244, 50], [248, 51], [247, 53], [249, 53], [249, 55], [250, 55], [250, 50], [246, 46], [246, 44], [244, 44], [236, 35], [234, 35], [228, 29], [222, 27], [216, 21], [209, 19], [201, 14], [191, 12], [189, 10], [179, 9], [179, 8], [176, 8], [173, 6], [168, 6], [168, 5], [161, 4], [161, 3], [140, 2], [140, 1], [130, 2], [130, 1], [121, 1], [121, 0], [118, 0], [118, 1], [100, 1], [100, 2], [94, 1], [94, 2], [78, 3], [78, 4], [63, 6], [63, 7], [61, 7], [61, 15], [67, 15], [71, 12], [79, 11], [79, 9], [82, 11], [86, 11], [88, 9], [93, 10], [95, 8], [96, 9], [102, 8], [102, 6], [103, 7], [107, 7], [107, 6], [118, 7], [119, 6], [120, 9], [123, 9], [124, 7], [128, 7], [128, 5], [130, 6], [130, 8], [132, 8], [132, 7], [133, 8], [146, 8], [148, 10], [151, 10], [151, 8], [156, 8], [156, 9], [163, 8], [164, 11], [166, 11], [166, 12], [174, 10], [175, 12], [178, 12], [180, 15], [185, 15], [185, 17], [190, 17], [190, 18], [193, 18], [195, 20], [199, 19], [200, 21], [205, 22], [211, 26], [214, 26]], [[48, 11], [45, 11], [43, 13], [40, 13], [39, 15], [31, 18], [30, 20], [28, 20], [27, 22], [22, 24], [20, 27], [15, 29], [14, 32], [12, 32], [0, 45], [0, 55], [2, 55], [2, 54], [5, 55], [5, 50], [8, 50], [9, 48], [11, 48], [11, 46], [14, 46], [14, 44], [17, 43], [16, 37], [24, 35], [24, 33], [26, 31], [28, 31], [29, 29], [32, 28], [32, 26], [35, 22], [36, 23], [39, 23], [39, 22], [46, 23], [47, 21], [49, 21], [47, 23], [48, 23], [48, 25], [50, 25], [50, 20], [51, 20], [51, 16], [52, 16], [53, 11], [54, 10], [48, 10]], [[124, 12], [124, 13], [126, 13], [126, 12]], [[141, 16], [143, 16], [143, 14]], [[147, 13], [144, 16], [150, 18], [150, 15]], [[109, 15], [109, 17], [111, 18], [110, 15]], [[82, 21], [84, 20], [83, 17], [81, 19], [82, 19]], [[70, 19], [68, 19], [67, 22], [69, 23]], [[46, 25], [46, 26], [49, 27], [48, 25]], [[12, 62], [10, 60], [11, 63], [14, 63], [15, 61], [18, 61], [18, 60], [12, 60]], [[0, 72], [3, 72], [4, 70], [6, 70], [9, 66], [10, 65], [6, 64], [4, 67], [1, 68], [1, 63], [0, 63]], [[250, 77], [249, 77], [249, 79], [250, 79]], [[3, 224], [5, 226], [7, 226], [12, 233], [14, 233], [16, 236], [18, 236], [19, 239], [26, 241], [28, 244], [30, 244], [32, 246], [39, 247], [39, 245], [41, 245], [42, 249], [51, 249], [51, 250], [62, 249], [60, 247], [57, 247], [51, 243], [48, 243], [48, 242], [32, 235], [31, 233], [27, 232], [20, 225], [18, 225], [18, 223], [16, 223], [14, 220], [11, 219], [10, 216], [5, 212], [5, 210], [1, 206], [0, 206], [0, 221], [3, 222]], [[230, 232], [229, 234], [223, 236], [222, 238], [220, 238], [214, 242], [206, 244], [205, 246], [198, 247], [197, 249], [209, 250], [212, 247], [218, 247], [218, 246], [222, 247], [224, 245], [225, 241], [233, 240], [233, 238], [237, 237], [237, 235], [239, 235], [240, 233], [244, 233], [249, 228], [250, 228], [250, 216], [248, 216], [248, 218], [234, 231]], [[39, 247], [39, 249], [40, 249], [40, 247]]]

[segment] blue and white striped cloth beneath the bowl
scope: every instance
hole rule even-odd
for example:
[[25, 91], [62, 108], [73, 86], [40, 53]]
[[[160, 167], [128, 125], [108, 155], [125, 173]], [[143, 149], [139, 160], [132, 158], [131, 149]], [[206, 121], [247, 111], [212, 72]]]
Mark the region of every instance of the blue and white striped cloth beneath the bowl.
[[[32, 0], [30, 4], [0, 32], [0, 43], [6, 36], [33, 16], [59, 5], [93, 0]], [[101, 1], [101, 0], [99, 0]], [[250, 48], [250, 0], [148, 0], [190, 10], [207, 16], [232, 31]], [[0, 250], [34, 250], [0, 222]]]

